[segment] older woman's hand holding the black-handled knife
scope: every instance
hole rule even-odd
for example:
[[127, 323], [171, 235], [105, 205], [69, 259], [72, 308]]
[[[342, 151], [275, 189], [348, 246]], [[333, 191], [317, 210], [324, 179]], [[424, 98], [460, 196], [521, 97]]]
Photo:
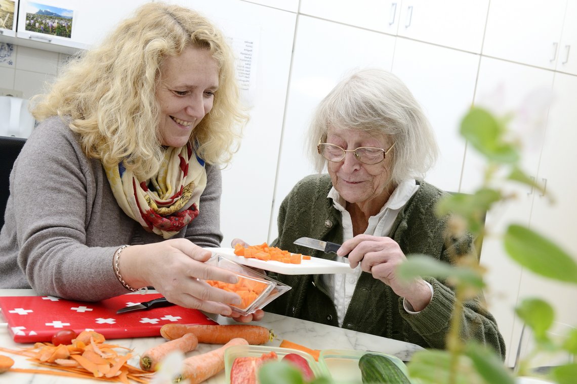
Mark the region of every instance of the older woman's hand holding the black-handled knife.
[[347, 240], [337, 251], [339, 256], [349, 254], [351, 268], [361, 264], [361, 269], [375, 279], [387, 284], [395, 294], [405, 298], [415, 311], [424, 309], [431, 299], [431, 291], [424, 280], [411, 282], [398, 279], [396, 267], [407, 260], [393, 239], [371, 235], [357, 235]]

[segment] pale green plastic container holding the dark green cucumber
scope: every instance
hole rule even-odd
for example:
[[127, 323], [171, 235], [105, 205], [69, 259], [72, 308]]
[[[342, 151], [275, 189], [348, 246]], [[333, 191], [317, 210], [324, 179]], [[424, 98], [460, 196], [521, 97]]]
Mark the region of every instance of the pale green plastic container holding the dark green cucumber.
[[319, 356], [319, 364], [329, 373], [329, 376], [337, 383], [362, 383], [359, 359], [370, 353], [381, 355], [391, 359], [404, 374], [408, 375], [407, 366], [394, 355], [381, 352], [354, 351], [347, 349], [323, 349]]

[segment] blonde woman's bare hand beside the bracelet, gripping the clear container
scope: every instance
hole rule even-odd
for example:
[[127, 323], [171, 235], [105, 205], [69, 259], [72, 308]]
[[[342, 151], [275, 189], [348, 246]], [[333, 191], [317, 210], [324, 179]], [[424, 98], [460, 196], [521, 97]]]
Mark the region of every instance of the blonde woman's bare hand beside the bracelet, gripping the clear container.
[[240, 296], [200, 280], [237, 283], [238, 277], [231, 271], [205, 263], [210, 257], [210, 251], [186, 239], [169, 239], [125, 248], [120, 271], [130, 286], [153, 286], [171, 303], [231, 315], [232, 310], [224, 303], [240, 304]]

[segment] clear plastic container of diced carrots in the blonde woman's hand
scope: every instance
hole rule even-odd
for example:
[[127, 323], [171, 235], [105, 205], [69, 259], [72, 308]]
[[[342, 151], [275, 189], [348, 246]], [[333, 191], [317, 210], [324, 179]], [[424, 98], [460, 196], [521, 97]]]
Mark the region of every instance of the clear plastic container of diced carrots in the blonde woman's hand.
[[229, 306], [243, 315], [248, 315], [264, 307], [291, 288], [275, 279], [271, 279], [271, 277], [254, 271], [252, 268], [216, 254], [213, 254], [207, 263], [218, 265], [220, 268], [228, 269], [228, 271], [233, 271], [237, 274], [238, 282], [236, 284], [223, 283], [216, 280], [205, 280], [205, 282], [214, 287], [231, 290], [239, 294], [242, 292], [242, 303], [238, 306]]

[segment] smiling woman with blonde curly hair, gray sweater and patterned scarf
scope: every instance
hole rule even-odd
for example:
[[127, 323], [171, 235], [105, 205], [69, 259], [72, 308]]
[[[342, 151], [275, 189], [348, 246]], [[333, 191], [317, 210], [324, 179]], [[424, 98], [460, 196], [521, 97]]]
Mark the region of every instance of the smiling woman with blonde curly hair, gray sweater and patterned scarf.
[[[98, 301], [153, 286], [230, 315], [221, 174], [246, 115], [226, 37], [185, 7], [148, 3], [35, 98], [10, 176], [0, 288]], [[31, 211], [32, 210], [32, 211]]]

